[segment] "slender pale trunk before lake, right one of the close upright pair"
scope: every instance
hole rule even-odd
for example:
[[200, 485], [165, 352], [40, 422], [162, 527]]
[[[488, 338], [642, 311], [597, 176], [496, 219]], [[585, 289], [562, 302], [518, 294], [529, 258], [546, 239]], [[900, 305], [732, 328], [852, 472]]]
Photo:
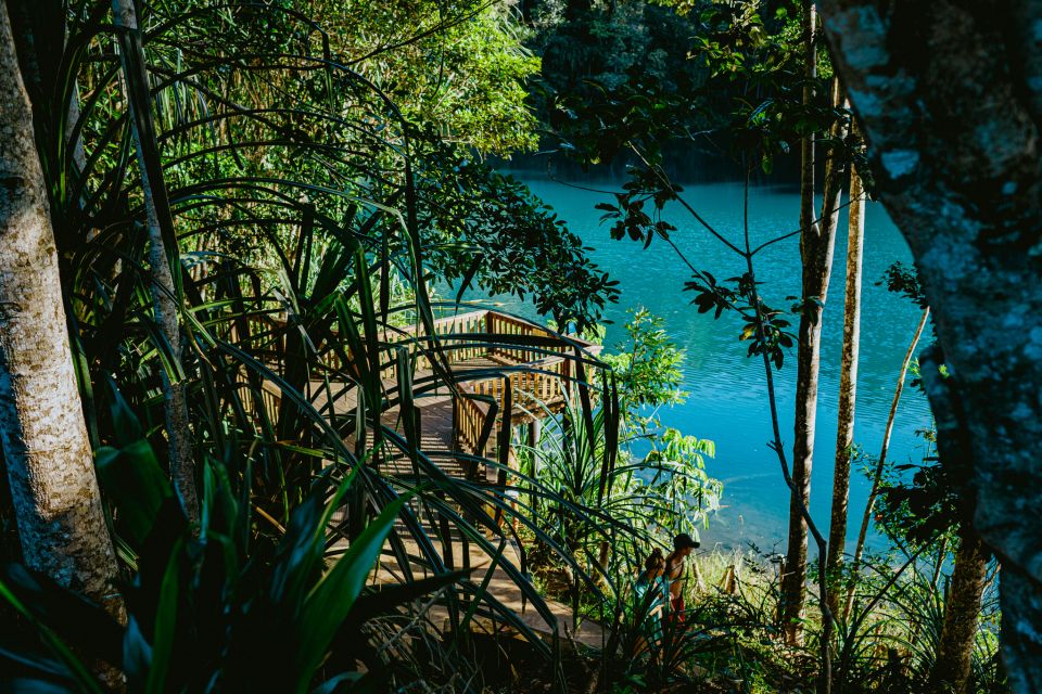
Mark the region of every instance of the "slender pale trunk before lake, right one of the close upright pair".
[[[836, 434], [836, 467], [833, 474], [833, 510], [828, 526], [826, 571], [835, 578], [847, 545], [847, 504], [850, 500], [850, 466], [854, 445], [854, 410], [857, 402], [857, 354], [861, 348], [861, 267], [865, 240], [865, 192], [857, 169], [850, 171], [850, 218], [847, 230], [847, 296], [843, 307], [843, 354], [839, 376], [839, 415]], [[839, 614], [837, 591], [830, 590], [829, 608]]]

